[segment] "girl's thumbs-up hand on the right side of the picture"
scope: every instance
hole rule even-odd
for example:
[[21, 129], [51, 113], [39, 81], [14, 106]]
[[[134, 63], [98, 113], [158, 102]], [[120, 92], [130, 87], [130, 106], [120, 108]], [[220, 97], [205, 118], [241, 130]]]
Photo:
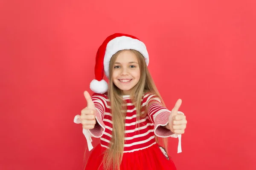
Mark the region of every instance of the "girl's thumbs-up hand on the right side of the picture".
[[167, 129], [171, 130], [173, 133], [176, 134], [183, 134], [186, 129], [186, 116], [183, 114], [178, 114], [178, 110], [180, 108], [182, 101], [178, 99], [175, 107], [172, 109], [172, 113], [169, 117], [169, 123], [167, 125]]

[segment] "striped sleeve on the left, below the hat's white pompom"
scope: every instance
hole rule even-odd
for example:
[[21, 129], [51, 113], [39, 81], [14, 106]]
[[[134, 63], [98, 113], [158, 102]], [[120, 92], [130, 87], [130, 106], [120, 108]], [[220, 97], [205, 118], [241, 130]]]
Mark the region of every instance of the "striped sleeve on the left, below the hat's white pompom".
[[107, 96], [94, 93], [91, 98], [96, 108], [96, 124], [93, 129], [89, 130], [89, 132], [91, 136], [95, 138], [100, 138], [105, 132], [103, 117], [105, 113]]

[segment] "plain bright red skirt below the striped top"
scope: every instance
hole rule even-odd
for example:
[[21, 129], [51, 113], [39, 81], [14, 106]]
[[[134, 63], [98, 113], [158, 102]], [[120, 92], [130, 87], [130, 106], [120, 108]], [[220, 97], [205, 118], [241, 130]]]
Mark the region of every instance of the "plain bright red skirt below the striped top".
[[[85, 170], [104, 170], [101, 163], [105, 150], [105, 147], [98, 144], [92, 150]], [[154, 144], [143, 150], [124, 153], [120, 170], [176, 170], [176, 167], [172, 158], [166, 156], [158, 144]]]

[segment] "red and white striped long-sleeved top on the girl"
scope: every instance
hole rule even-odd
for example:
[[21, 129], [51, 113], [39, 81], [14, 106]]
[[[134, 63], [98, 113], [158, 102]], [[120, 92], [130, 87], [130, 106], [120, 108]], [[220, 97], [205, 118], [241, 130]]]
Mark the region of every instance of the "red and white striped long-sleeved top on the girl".
[[[143, 96], [142, 105], [148, 107], [148, 113], [140, 121], [136, 119], [136, 107], [132, 104], [130, 96], [124, 95], [122, 97], [127, 103], [124, 153], [142, 150], [156, 144], [154, 135], [178, 137], [177, 134], [163, 127], [168, 124], [171, 111], [160, 104], [161, 101], [156, 95], [148, 92]], [[96, 107], [96, 121], [98, 124], [92, 130], [89, 130], [90, 135], [100, 138], [101, 146], [108, 148], [113, 127], [110, 100], [106, 94], [98, 93], [93, 94], [91, 98]], [[152, 100], [155, 100], [155, 102], [149, 103]], [[148, 104], [150, 105], [148, 106]]]

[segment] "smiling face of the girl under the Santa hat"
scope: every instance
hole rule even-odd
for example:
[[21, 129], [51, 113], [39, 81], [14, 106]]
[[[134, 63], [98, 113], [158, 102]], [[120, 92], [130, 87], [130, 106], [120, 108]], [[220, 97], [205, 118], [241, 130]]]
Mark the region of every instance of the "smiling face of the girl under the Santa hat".
[[130, 50], [120, 52], [114, 63], [113, 83], [122, 90], [122, 95], [130, 95], [139, 80], [140, 67], [136, 55]]

